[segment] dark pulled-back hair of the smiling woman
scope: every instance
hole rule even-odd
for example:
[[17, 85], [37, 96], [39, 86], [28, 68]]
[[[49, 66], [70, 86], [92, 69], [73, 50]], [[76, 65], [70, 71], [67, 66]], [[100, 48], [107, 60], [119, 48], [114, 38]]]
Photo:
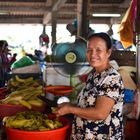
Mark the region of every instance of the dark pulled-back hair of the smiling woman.
[[103, 32], [101, 32], [101, 33], [94, 33], [94, 34], [91, 34], [91, 35], [88, 37], [88, 40], [90, 40], [90, 39], [93, 38], [93, 37], [100, 37], [100, 38], [104, 39], [105, 42], [106, 42], [106, 45], [107, 45], [107, 49], [111, 49], [111, 47], [112, 47], [112, 42], [111, 42], [111, 39], [110, 39], [110, 37], [109, 37], [108, 34], [103, 33]]

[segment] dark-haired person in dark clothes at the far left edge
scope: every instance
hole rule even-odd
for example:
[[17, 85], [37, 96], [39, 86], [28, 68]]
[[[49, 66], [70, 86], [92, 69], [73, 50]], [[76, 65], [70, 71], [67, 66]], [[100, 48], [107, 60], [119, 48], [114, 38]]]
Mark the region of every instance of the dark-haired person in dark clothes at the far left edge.
[[10, 71], [10, 63], [8, 59], [8, 43], [0, 40], [0, 87], [5, 86], [6, 75]]

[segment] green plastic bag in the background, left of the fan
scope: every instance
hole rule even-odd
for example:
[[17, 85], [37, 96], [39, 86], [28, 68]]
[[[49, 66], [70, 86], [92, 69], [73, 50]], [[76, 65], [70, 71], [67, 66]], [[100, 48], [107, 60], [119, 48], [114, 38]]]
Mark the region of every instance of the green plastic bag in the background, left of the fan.
[[25, 67], [25, 66], [30, 66], [35, 64], [35, 61], [33, 61], [29, 56], [24, 56], [21, 59], [15, 61], [11, 68], [15, 69], [15, 68], [21, 68], [21, 67]]

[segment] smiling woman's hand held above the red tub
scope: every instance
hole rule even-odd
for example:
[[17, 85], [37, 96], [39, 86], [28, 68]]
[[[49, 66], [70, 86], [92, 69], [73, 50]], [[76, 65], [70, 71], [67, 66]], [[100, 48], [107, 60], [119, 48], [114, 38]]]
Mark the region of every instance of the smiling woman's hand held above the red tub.
[[58, 105], [58, 108], [54, 113], [57, 117], [70, 114], [73, 107], [74, 106], [71, 103], [62, 103]]

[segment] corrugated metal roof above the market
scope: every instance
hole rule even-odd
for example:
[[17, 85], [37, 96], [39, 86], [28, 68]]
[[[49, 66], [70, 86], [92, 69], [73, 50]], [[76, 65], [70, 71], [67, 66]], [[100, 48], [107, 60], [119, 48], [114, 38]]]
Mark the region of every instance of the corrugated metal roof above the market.
[[[39, 23], [51, 22], [55, 11], [58, 23], [69, 23], [77, 16], [77, 0], [0, 0], [1, 23]], [[87, 0], [88, 2], [88, 0]], [[88, 13], [125, 13], [130, 0], [90, 0]], [[107, 22], [105, 18], [93, 18], [93, 23]], [[111, 19], [108, 19], [111, 20]], [[116, 20], [120, 20], [119, 18]], [[108, 21], [110, 22], [110, 21]]]

